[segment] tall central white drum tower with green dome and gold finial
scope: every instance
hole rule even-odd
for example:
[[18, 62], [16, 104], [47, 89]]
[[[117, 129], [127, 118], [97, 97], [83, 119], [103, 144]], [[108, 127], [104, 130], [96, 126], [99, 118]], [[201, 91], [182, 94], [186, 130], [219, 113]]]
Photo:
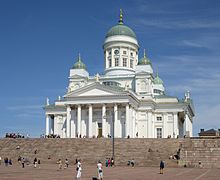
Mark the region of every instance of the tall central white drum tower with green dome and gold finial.
[[105, 75], [135, 74], [139, 44], [136, 34], [124, 25], [122, 10], [118, 24], [110, 28], [103, 44]]

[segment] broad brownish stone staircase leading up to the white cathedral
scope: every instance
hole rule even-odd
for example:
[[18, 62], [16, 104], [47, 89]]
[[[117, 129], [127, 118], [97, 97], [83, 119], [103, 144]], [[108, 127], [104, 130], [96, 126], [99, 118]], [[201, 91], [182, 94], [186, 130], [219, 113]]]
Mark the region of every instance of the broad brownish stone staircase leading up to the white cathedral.
[[[162, 159], [167, 166], [177, 167], [177, 161], [169, 157], [176, 154], [179, 143], [180, 139], [116, 138], [115, 163], [124, 166], [134, 159], [138, 166], [159, 166]], [[22, 156], [31, 162], [35, 157], [42, 163], [56, 163], [59, 158], [74, 163], [80, 158], [85, 164], [94, 164], [112, 157], [112, 139], [0, 139], [0, 156], [13, 162]]]

